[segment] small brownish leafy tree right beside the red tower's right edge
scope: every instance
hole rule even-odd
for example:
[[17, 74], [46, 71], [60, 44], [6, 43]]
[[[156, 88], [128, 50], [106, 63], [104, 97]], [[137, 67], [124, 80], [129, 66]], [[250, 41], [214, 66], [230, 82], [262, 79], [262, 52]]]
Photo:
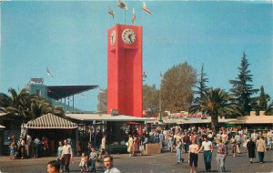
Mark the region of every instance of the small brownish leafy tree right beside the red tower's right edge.
[[156, 117], [159, 110], [159, 90], [156, 85], [143, 86], [143, 108], [147, 110], [148, 117]]

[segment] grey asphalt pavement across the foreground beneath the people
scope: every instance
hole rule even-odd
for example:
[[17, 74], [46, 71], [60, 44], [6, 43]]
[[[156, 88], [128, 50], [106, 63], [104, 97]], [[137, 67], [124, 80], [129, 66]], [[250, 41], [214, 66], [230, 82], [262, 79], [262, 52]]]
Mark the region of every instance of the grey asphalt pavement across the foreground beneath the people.
[[[258, 163], [257, 158], [254, 159], [254, 163], [249, 163], [248, 153], [245, 152], [245, 148], [241, 148], [243, 153], [238, 154], [236, 158], [233, 158], [228, 150], [229, 155], [226, 158], [226, 170], [227, 172], [273, 172], [273, 150], [265, 153], [265, 163]], [[215, 150], [216, 151], [216, 150]], [[187, 164], [187, 153], [183, 153], [182, 157], [185, 158], [184, 163], [177, 164], [176, 153], [170, 153], [165, 151], [160, 154], [153, 154], [147, 156], [128, 157], [128, 154], [115, 154], [114, 165], [120, 169], [122, 173], [182, 173], [189, 172]], [[216, 166], [216, 153], [213, 153], [212, 158], [212, 172], [217, 172]], [[0, 173], [12, 172], [12, 173], [32, 173], [32, 172], [46, 172], [46, 164], [48, 161], [56, 158], [29, 158], [29, 159], [15, 159], [10, 160], [8, 157], [0, 157]], [[80, 172], [79, 157], [75, 158], [75, 162], [70, 165], [70, 172]], [[203, 154], [198, 155], [198, 167], [197, 172], [206, 172], [203, 162]]]

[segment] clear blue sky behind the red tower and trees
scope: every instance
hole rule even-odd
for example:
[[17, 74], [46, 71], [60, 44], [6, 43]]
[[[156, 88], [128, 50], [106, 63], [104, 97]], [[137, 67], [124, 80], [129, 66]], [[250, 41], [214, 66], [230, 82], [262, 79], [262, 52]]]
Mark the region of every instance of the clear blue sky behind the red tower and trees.
[[[145, 84], [160, 83], [160, 72], [187, 61], [207, 86], [228, 91], [246, 52], [255, 88], [273, 97], [273, 6], [268, 2], [126, 1], [126, 25], [135, 7], [143, 25]], [[117, 17], [107, 14], [111, 6]], [[0, 92], [22, 88], [31, 77], [45, 85], [99, 85], [106, 88], [106, 32], [124, 24], [116, 1], [5, 1], [1, 4]], [[46, 75], [48, 66], [54, 75]], [[75, 106], [96, 110], [99, 90], [76, 96]]]

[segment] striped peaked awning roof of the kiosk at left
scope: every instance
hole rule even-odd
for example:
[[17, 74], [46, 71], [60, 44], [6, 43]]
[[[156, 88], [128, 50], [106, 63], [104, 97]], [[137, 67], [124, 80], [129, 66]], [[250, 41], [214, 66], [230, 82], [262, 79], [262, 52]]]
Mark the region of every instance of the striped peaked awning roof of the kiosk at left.
[[37, 117], [35, 120], [28, 121], [25, 128], [76, 128], [76, 123], [73, 123], [63, 117], [57, 117], [52, 114], [46, 114], [42, 117]]

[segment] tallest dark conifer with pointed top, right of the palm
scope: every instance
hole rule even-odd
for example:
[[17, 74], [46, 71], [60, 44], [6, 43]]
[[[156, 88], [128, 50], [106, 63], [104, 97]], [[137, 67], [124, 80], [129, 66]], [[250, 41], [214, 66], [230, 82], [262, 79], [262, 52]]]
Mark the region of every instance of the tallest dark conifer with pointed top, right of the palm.
[[232, 93], [232, 100], [238, 104], [244, 115], [248, 115], [250, 110], [257, 104], [257, 98], [251, 97], [258, 92], [258, 89], [253, 89], [253, 85], [250, 84], [253, 80], [248, 69], [249, 65], [247, 55], [244, 53], [238, 67], [238, 76], [235, 80], [229, 80], [229, 83], [233, 86], [229, 89]]

